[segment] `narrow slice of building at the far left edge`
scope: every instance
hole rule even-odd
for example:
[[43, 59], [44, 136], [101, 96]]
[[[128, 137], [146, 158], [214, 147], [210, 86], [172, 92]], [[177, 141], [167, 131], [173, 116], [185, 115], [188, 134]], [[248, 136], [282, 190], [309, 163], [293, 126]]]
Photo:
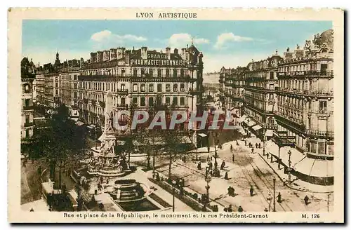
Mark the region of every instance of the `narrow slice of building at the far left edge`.
[[21, 62], [21, 92], [22, 92], [22, 107], [21, 107], [21, 142], [27, 143], [33, 136], [33, 81], [35, 79], [35, 67], [31, 60], [25, 57]]

